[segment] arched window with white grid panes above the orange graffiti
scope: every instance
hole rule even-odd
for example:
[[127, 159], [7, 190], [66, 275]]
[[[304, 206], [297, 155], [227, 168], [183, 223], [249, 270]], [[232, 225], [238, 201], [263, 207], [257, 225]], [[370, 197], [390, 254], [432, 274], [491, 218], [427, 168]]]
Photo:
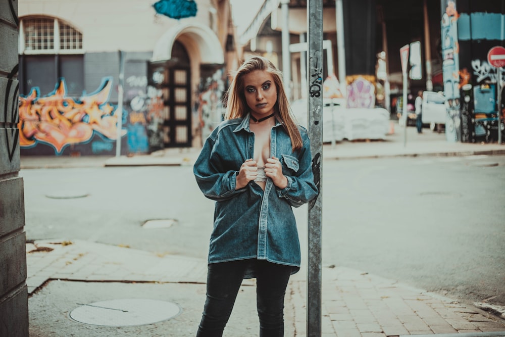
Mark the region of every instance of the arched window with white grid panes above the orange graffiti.
[[32, 16], [21, 18], [19, 39], [21, 94], [39, 87], [46, 95], [61, 77], [68, 95], [82, 94], [84, 50], [79, 30], [57, 18]]

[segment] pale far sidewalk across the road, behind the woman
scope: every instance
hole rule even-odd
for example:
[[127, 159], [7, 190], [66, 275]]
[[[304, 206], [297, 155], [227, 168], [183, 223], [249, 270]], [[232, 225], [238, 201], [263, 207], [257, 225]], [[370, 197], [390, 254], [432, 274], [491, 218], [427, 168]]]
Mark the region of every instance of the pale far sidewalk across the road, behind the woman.
[[[418, 156], [471, 156], [505, 155], [505, 145], [497, 143], [462, 143], [448, 142], [445, 134], [425, 129], [418, 134], [416, 128], [395, 125], [395, 132], [388, 134], [385, 140], [348, 141], [335, 145], [323, 145], [323, 159], [356, 159], [379, 157], [418, 157]], [[192, 165], [199, 154], [199, 149], [165, 149], [150, 155], [110, 156], [24, 156], [21, 168], [63, 168], [63, 167], [112, 167], [142, 165]]]

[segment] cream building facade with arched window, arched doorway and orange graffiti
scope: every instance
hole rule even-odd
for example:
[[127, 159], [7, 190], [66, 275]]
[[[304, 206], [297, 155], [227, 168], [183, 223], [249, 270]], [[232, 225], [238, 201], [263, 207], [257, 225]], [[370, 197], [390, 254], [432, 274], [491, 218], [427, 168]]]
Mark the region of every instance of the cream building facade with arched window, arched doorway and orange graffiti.
[[221, 119], [228, 0], [20, 0], [19, 18], [21, 155], [199, 146]]

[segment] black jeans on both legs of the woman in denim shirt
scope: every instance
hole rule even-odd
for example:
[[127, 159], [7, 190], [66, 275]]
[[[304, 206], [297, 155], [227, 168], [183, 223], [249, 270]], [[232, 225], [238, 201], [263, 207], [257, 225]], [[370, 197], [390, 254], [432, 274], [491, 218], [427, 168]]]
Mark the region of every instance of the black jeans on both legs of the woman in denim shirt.
[[[208, 266], [207, 299], [196, 337], [221, 337], [230, 318], [246, 267], [251, 260], [212, 263]], [[261, 337], [284, 336], [284, 295], [291, 267], [254, 260], [256, 302]]]

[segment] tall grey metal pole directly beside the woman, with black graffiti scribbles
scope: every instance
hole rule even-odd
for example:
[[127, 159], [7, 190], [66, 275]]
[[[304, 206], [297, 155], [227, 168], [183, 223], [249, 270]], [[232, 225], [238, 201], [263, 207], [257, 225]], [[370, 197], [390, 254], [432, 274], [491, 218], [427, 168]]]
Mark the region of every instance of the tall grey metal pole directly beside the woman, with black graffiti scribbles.
[[319, 188], [317, 198], [309, 203], [308, 271], [307, 271], [307, 336], [321, 336], [321, 219], [322, 219], [322, 157], [323, 157], [323, 2], [307, 2], [309, 136], [311, 139], [312, 171]]

